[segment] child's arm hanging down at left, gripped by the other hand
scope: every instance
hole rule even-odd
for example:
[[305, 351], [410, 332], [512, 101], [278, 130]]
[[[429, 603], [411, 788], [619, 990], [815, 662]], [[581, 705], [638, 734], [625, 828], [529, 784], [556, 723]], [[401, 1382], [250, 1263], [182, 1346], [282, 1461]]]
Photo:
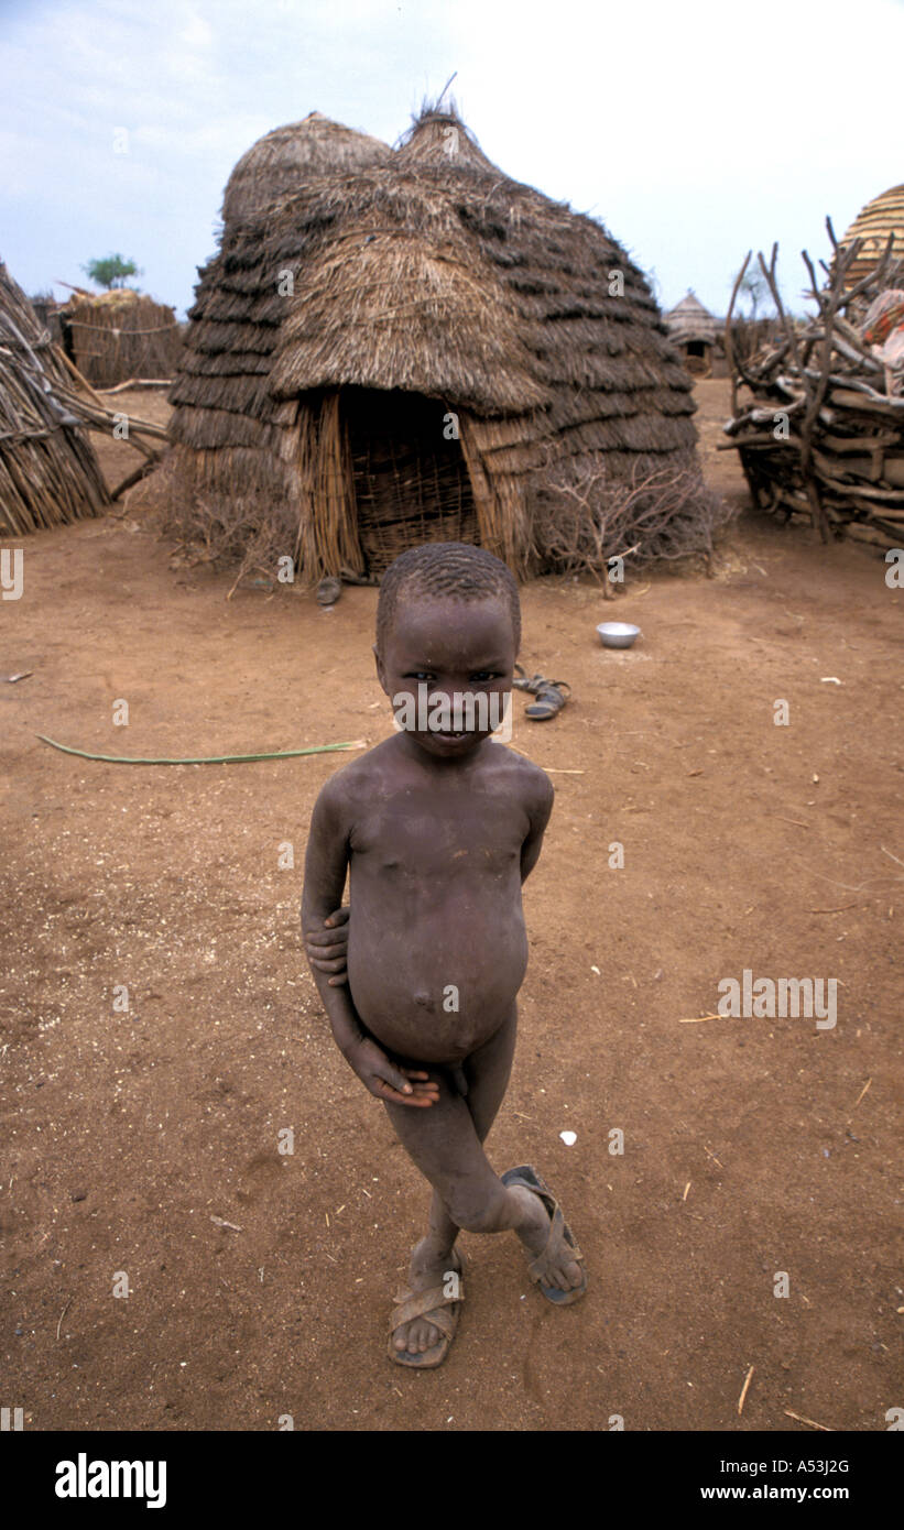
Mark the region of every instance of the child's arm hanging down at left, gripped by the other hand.
[[[311, 933], [321, 929], [330, 910], [341, 904], [347, 864], [349, 812], [341, 786], [327, 782], [314, 805], [307, 837], [301, 897], [301, 932], [306, 942]], [[312, 973], [329, 1016], [333, 1040], [370, 1094], [379, 1100], [395, 1100], [398, 1105], [434, 1105], [439, 1099], [439, 1085], [430, 1082], [425, 1073], [396, 1068], [367, 1036], [349, 988], [330, 987], [326, 973], [318, 972], [314, 964]]]

